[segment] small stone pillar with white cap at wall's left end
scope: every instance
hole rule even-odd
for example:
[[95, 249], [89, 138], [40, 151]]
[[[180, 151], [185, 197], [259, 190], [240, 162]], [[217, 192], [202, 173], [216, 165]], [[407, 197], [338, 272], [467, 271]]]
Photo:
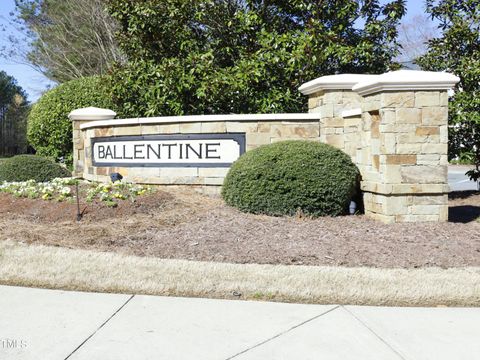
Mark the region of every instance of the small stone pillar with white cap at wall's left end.
[[89, 154], [85, 154], [85, 139], [81, 125], [92, 121], [112, 120], [116, 115], [112, 110], [96, 107], [77, 109], [68, 114], [73, 123], [73, 176], [83, 177], [86, 161], [90, 158]]

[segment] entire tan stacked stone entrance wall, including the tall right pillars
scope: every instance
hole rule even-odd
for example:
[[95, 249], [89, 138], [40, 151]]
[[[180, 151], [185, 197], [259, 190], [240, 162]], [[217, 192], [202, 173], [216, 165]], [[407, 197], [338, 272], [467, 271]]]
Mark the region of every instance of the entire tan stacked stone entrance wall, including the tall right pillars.
[[[444, 85], [442, 85], [444, 87]], [[379, 90], [364, 92], [331, 89], [309, 95], [309, 113], [294, 121], [192, 121], [171, 118], [74, 121], [75, 175], [107, 181], [113, 172], [127, 181], [162, 185], [190, 185], [218, 193], [228, 168], [101, 167], [93, 166], [91, 139], [152, 134], [244, 133], [246, 151], [282, 140], [304, 139], [333, 145], [351, 156], [362, 179], [367, 216], [384, 222], [448, 220], [448, 95], [446, 90]], [[284, 118], [288, 117], [285, 114]], [[291, 115], [291, 114], [290, 114]], [[268, 118], [268, 119], [267, 119]], [[238, 118], [235, 118], [238, 119]], [[170, 121], [170, 120], [168, 120]], [[102, 125], [103, 124], [103, 125]]]

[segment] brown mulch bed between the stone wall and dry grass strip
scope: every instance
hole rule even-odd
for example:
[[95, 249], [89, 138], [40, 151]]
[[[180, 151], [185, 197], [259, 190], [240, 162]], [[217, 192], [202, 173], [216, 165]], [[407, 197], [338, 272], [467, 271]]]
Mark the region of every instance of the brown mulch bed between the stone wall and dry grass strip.
[[0, 194], [0, 240], [161, 258], [373, 267], [480, 266], [480, 194], [452, 194], [451, 222], [381, 224], [364, 216], [275, 218], [220, 199], [158, 190], [117, 208]]

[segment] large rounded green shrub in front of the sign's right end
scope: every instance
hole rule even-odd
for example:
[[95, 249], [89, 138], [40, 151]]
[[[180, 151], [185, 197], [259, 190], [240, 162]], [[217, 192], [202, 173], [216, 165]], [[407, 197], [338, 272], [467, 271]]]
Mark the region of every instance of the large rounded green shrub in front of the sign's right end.
[[283, 141], [242, 155], [225, 178], [222, 196], [256, 214], [335, 216], [346, 213], [358, 179], [344, 152], [313, 141]]

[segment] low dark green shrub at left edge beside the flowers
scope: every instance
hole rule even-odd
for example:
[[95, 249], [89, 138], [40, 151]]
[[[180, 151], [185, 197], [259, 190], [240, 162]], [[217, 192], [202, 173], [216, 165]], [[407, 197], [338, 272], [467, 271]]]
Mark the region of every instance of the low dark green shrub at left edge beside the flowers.
[[3, 181], [50, 181], [71, 176], [60, 164], [36, 155], [18, 155], [0, 163], [0, 182]]

